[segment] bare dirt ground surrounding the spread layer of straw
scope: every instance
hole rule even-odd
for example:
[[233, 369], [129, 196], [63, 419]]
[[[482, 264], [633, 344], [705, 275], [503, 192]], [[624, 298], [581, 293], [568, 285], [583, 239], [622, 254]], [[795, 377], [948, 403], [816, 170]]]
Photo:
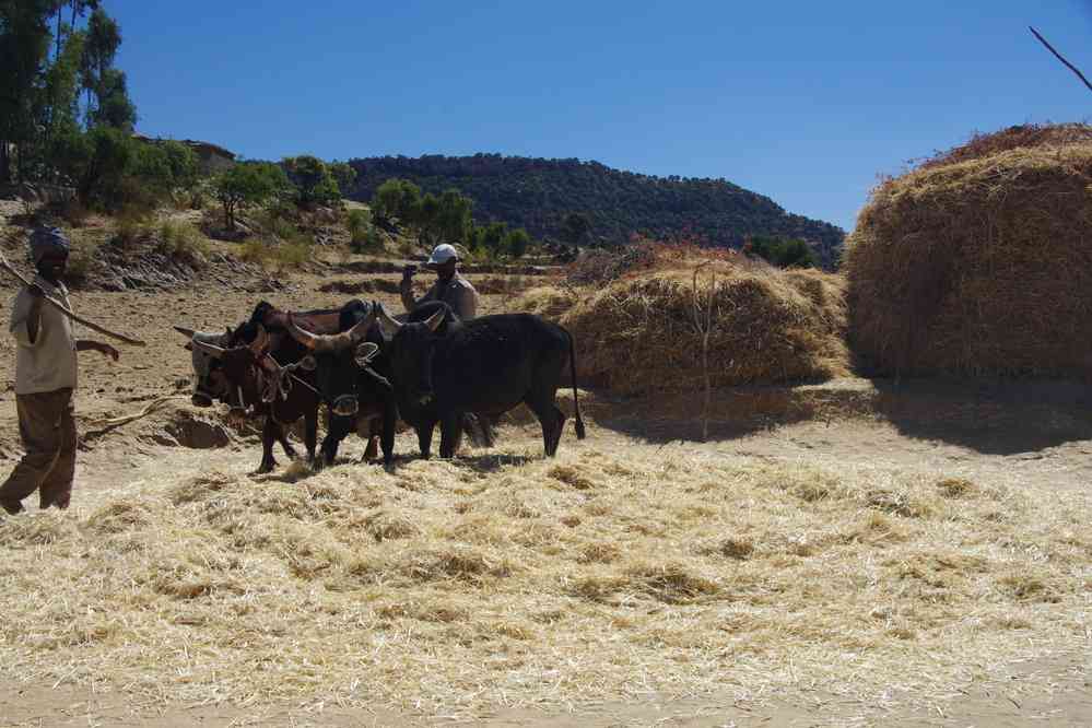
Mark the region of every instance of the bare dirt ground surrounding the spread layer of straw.
[[[343, 281], [331, 286], [332, 280]], [[189, 388], [189, 353], [171, 329], [179, 324], [218, 330], [245, 318], [262, 298], [295, 309], [340, 305], [344, 290], [369, 281], [378, 298], [399, 308], [390, 293], [397, 275], [362, 275], [329, 269], [285, 279], [280, 290], [256, 293], [227, 285], [184, 286], [167, 292], [75, 292], [73, 304], [96, 321], [137, 336], [148, 347], [122, 348], [116, 364], [95, 354], [81, 355], [81, 384], [77, 399], [81, 430], [95, 422], [140, 410], [149, 402], [178, 396], [184, 407]], [[348, 286], [348, 289], [347, 289]], [[332, 289], [322, 292], [321, 289]], [[0, 284], [7, 320], [7, 302], [14, 292], [10, 281]], [[484, 313], [500, 310], [503, 295], [486, 297]], [[0, 338], [0, 474], [7, 474], [21, 454], [14, 413], [13, 344]], [[726, 400], [713, 423], [714, 442], [694, 442], [693, 418], [649, 411], [638, 403], [614, 402], [588, 395], [590, 442], [600, 449], [639, 446], [670, 459], [673, 453], [743, 457], [755, 461], [807, 461], [866, 466], [882, 462], [907, 471], [938, 472], [983, 482], [1000, 482], [1034, 497], [1052, 498], [1066, 492], [1084, 500], [1092, 479], [1092, 419], [1083, 412], [1085, 394], [1077, 385], [996, 385], [984, 387], [948, 383], [890, 383], [845, 380], [813, 388], [782, 388], [780, 407], [755, 407], [740, 414]], [[787, 392], [787, 394], [786, 394]], [[754, 399], [770, 395], [755, 394]], [[745, 395], [744, 395], [745, 396]], [[787, 402], [787, 403], [786, 403]], [[817, 402], [820, 402], [817, 404]], [[686, 410], [685, 402], [674, 406]], [[670, 408], [665, 408], [670, 409]], [[692, 410], [691, 410], [692, 411]], [[126, 483], [154, 479], [171, 471], [183, 479], [214, 467], [239, 469], [257, 466], [254, 438], [227, 446], [195, 450], [175, 433], [156, 439], [154, 418], [138, 421], [84, 442], [74, 498]], [[533, 443], [529, 427], [505, 431], [507, 442]], [[572, 437], [571, 431], [566, 438]], [[506, 441], [498, 445], [504, 449]], [[566, 446], [562, 441], [562, 448]], [[399, 451], [413, 449], [408, 435], [399, 436]], [[350, 455], [360, 444], [347, 445]], [[283, 458], [282, 458], [283, 459]], [[27, 505], [32, 506], [31, 501]], [[4, 521], [0, 521], [0, 529]], [[2, 557], [2, 555], [0, 555]], [[1092, 574], [1088, 574], [1092, 584]], [[2, 588], [2, 587], [0, 587]], [[1020, 637], [1025, 638], [1025, 637]], [[1090, 632], [1066, 649], [1030, 661], [991, 668], [986, 679], [952, 684], [943, 695], [918, 695], [892, 686], [883, 704], [865, 704], [845, 695], [817, 692], [806, 684], [776, 694], [741, 700], [736, 693], [695, 695], [648, 694], [624, 702], [572, 703], [542, 708], [519, 707], [446, 718], [412, 709], [376, 707], [374, 712], [338, 705], [166, 704], [144, 702], [102, 676], [101, 682], [48, 684], [27, 682], [0, 666], [0, 726], [198, 726], [198, 725], [447, 725], [488, 726], [1087, 726], [1092, 725], [1089, 667]], [[683, 691], [684, 693], [684, 691]]]

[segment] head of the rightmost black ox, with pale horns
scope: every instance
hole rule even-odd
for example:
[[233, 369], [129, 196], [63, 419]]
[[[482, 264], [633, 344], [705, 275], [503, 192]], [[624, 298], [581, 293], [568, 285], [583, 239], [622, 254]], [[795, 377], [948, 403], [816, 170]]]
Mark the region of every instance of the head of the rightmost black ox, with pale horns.
[[[390, 316], [381, 304], [377, 319], [385, 337], [389, 337], [387, 355], [394, 377], [409, 401], [425, 404], [433, 397], [432, 360], [445, 319], [453, 317], [450, 308], [439, 305], [416, 310], [402, 324]], [[415, 319], [415, 320], [414, 320]]]

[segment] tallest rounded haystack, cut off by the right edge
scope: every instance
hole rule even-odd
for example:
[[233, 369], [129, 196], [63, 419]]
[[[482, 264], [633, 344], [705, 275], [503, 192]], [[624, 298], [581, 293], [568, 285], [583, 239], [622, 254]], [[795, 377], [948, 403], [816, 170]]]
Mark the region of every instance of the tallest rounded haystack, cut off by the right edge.
[[[955, 161], [873, 192], [846, 258], [850, 337], [868, 364], [1092, 373], [1092, 128], [1083, 130], [978, 137], [947, 153]], [[1043, 143], [1009, 148], [1020, 139]]]

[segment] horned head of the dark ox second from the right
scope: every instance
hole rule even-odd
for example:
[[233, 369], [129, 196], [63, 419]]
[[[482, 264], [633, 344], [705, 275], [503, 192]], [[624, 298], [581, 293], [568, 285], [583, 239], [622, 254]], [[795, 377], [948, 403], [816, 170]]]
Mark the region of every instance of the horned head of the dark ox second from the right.
[[368, 365], [379, 354], [379, 345], [367, 341], [375, 318], [376, 309], [373, 307], [348, 331], [318, 334], [297, 326], [291, 314], [287, 316], [285, 328], [289, 333], [310, 351], [307, 359], [314, 362], [319, 395], [330, 411], [339, 416], [355, 416], [360, 410], [361, 374], [371, 372]]

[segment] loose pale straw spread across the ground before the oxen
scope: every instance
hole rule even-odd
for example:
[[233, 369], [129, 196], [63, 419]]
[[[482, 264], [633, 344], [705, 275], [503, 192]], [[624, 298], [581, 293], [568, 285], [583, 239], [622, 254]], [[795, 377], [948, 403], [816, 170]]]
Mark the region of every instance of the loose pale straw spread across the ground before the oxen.
[[[1088, 503], [831, 460], [621, 438], [543, 460], [339, 466], [207, 456], [0, 522], [0, 671], [260, 712], [649, 694], [953, 695], [1083, 644]], [[291, 478], [287, 480], [292, 480]]]

